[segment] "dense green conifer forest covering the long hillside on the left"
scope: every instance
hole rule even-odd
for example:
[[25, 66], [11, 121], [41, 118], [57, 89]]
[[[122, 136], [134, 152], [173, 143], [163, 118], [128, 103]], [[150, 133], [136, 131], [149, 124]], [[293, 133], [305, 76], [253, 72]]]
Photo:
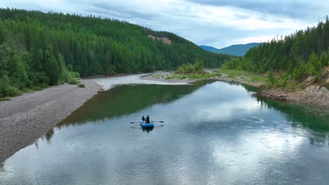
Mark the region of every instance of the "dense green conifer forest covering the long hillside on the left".
[[176, 69], [197, 59], [205, 67], [220, 67], [230, 57], [120, 20], [0, 9], [0, 97], [76, 83], [79, 76]]

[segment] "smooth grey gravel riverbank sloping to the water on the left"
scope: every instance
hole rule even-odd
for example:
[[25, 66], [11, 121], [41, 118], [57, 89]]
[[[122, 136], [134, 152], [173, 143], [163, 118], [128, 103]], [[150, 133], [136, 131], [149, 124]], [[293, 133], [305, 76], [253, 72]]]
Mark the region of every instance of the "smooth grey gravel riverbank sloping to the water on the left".
[[101, 90], [92, 80], [57, 85], [0, 102], [0, 164], [32, 144]]

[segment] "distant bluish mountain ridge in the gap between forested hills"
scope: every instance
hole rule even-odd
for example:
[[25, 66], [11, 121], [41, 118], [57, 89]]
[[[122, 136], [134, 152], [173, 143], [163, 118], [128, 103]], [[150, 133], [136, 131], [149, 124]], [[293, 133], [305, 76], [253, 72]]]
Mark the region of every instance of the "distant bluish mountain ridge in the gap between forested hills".
[[211, 51], [214, 53], [224, 53], [224, 54], [234, 55], [234, 56], [243, 56], [243, 55], [245, 55], [245, 53], [247, 53], [247, 51], [250, 48], [254, 48], [255, 46], [258, 46], [258, 45], [259, 45], [259, 43], [236, 44], [236, 45], [228, 46], [226, 48], [221, 48], [221, 49], [217, 49], [212, 46], [200, 46], [200, 47], [204, 50]]

